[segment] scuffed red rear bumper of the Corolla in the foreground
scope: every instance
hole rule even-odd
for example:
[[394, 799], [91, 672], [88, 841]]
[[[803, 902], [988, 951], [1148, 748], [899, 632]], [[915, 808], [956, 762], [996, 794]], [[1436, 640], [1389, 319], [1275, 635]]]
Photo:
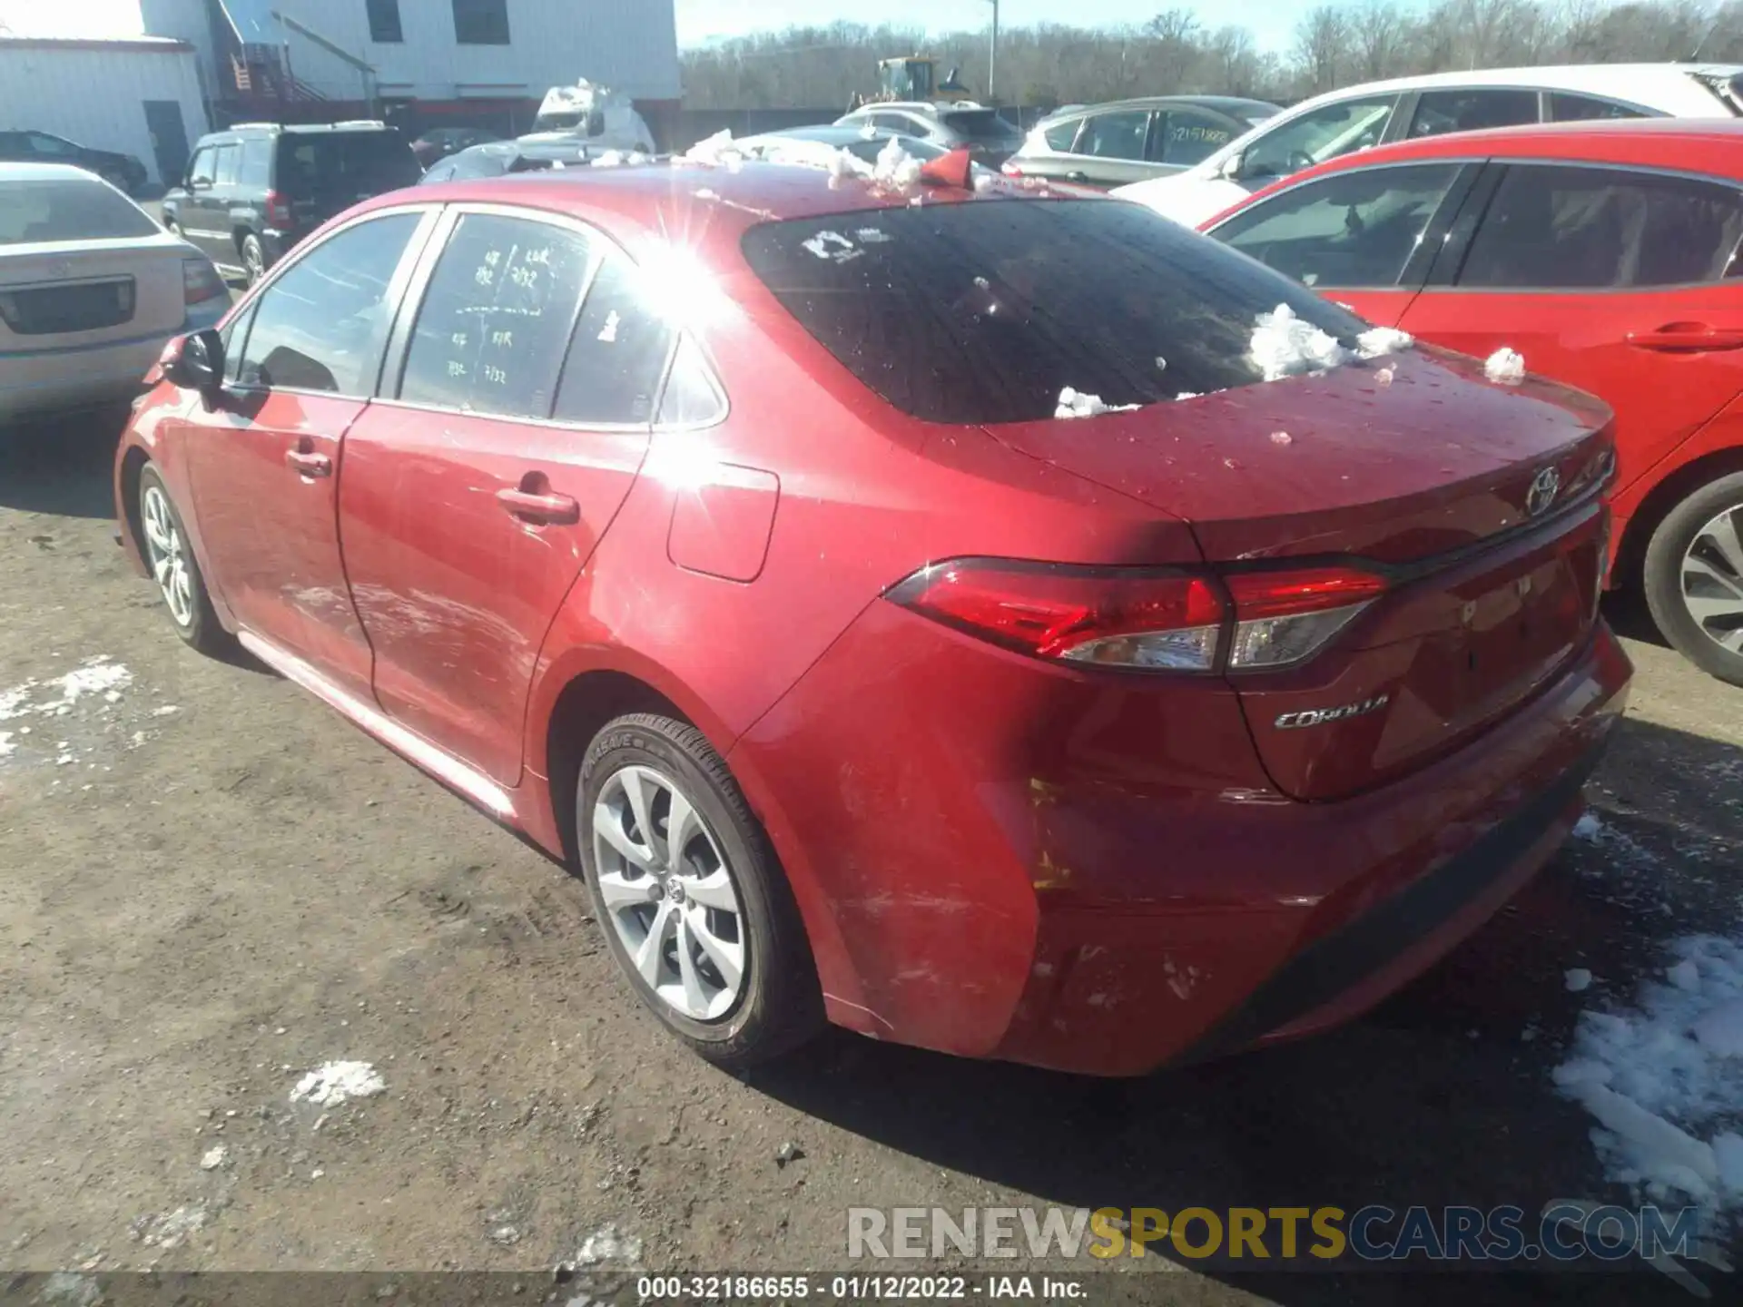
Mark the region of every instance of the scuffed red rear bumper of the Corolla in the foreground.
[[873, 605], [732, 758], [833, 1019], [1133, 1075], [1335, 1025], [1464, 939], [1567, 836], [1628, 678], [1598, 627], [1457, 753], [1302, 803], [1241, 775], [1213, 683], [1056, 673]]

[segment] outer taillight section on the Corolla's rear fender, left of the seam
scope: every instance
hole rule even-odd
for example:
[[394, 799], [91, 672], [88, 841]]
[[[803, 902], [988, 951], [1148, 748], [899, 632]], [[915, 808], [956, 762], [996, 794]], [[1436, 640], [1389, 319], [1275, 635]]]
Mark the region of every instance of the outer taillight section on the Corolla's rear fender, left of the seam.
[[1187, 573], [959, 559], [924, 568], [892, 601], [1041, 659], [1210, 671], [1225, 608]]

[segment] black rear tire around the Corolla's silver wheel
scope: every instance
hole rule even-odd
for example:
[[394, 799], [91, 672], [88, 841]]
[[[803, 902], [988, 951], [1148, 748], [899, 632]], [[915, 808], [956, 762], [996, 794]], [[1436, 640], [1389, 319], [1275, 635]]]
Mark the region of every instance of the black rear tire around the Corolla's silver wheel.
[[[636, 972], [600, 891], [593, 814], [612, 777], [631, 765], [654, 769], [678, 782], [708, 824], [737, 896], [744, 924], [744, 979], [736, 1004], [708, 1021], [678, 1012]], [[612, 957], [636, 997], [680, 1040], [708, 1061], [744, 1068], [777, 1058], [817, 1033], [823, 995], [793, 892], [732, 772], [695, 727], [652, 713], [608, 721], [580, 763], [575, 836], [582, 875]], [[652, 838], [648, 843], [654, 843]]]

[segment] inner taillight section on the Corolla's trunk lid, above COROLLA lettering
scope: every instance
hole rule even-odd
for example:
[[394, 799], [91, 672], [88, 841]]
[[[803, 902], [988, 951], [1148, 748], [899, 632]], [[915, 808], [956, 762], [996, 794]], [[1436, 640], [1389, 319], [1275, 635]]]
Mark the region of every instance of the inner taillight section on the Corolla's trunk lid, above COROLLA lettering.
[[1386, 591], [1384, 579], [1346, 566], [1238, 572], [1224, 584], [1236, 619], [1231, 671], [1311, 659]]

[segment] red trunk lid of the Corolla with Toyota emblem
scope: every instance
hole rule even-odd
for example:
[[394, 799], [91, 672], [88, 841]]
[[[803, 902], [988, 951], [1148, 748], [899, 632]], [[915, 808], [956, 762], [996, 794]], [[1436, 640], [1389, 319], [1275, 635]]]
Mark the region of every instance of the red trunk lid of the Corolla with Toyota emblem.
[[1227, 673], [1278, 788], [1332, 800], [1457, 748], [1597, 620], [1609, 411], [1480, 369], [1410, 350], [988, 430], [1189, 521], [1225, 577], [1354, 566], [1384, 580], [1316, 655]]

